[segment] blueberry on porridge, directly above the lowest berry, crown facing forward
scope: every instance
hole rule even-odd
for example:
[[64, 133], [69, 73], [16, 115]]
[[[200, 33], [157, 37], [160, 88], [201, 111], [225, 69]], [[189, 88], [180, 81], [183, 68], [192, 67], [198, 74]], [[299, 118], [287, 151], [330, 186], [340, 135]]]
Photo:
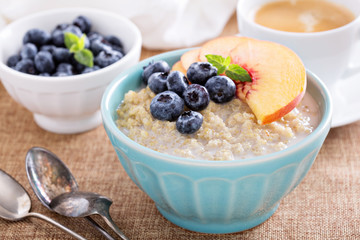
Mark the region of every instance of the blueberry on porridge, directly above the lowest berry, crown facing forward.
[[183, 94], [185, 105], [194, 111], [205, 109], [210, 102], [209, 93], [206, 88], [199, 84], [189, 85]]

